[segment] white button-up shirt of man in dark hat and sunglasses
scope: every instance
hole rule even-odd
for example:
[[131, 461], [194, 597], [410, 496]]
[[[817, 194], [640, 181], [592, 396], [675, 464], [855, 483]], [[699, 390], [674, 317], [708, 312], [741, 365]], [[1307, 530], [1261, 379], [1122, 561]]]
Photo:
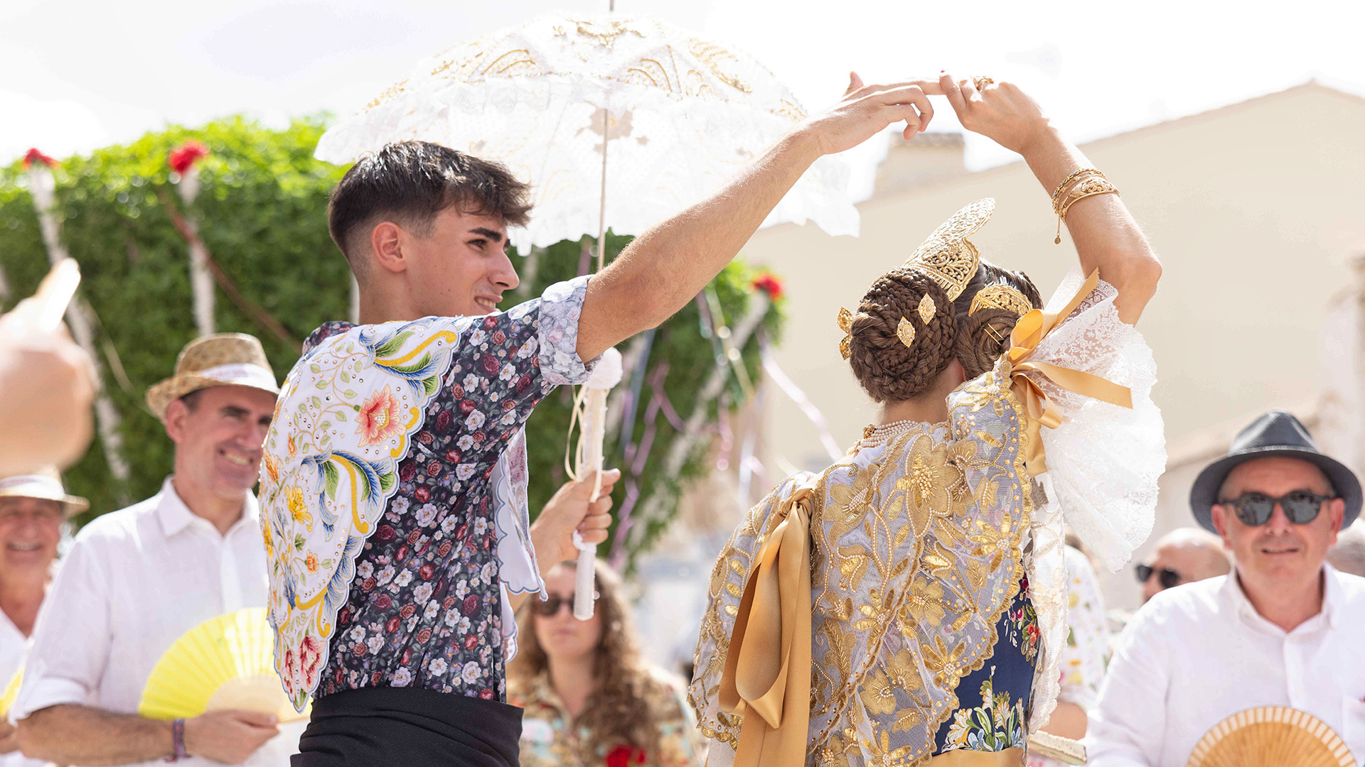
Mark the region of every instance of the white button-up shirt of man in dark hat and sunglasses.
[[1321, 611], [1291, 632], [1263, 618], [1233, 576], [1152, 598], [1100, 686], [1089, 764], [1183, 767], [1213, 725], [1259, 706], [1306, 711], [1365, 759], [1365, 579], [1323, 572]]

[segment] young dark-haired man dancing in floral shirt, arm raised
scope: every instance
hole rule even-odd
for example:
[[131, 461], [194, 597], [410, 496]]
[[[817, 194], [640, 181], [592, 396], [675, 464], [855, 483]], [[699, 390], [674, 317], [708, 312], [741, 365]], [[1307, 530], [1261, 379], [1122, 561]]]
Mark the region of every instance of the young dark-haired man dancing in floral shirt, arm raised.
[[692, 300], [816, 158], [891, 123], [924, 130], [938, 87], [854, 75], [715, 197], [508, 311], [506, 228], [527, 220], [526, 184], [425, 142], [347, 172], [330, 227], [362, 325], [308, 338], [261, 469], [276, 662], [296, 706], [314, 696], [295, 764], [516, 764], [511, 594], [542, 588], [536, 554], [572, 558], [575, 528], [601, 542], [610, 521], [610, 501], [584, 491], [527, 530], [526, 419]]

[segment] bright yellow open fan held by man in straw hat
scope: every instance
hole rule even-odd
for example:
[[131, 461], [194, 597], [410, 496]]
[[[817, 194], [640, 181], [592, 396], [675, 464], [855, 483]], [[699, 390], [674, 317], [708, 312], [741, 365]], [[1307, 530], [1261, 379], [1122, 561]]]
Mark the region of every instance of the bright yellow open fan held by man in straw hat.
[[161, 655], [138, 714], [152, 719], [198, 717], [236, 708], [274, 714], [281, 722], [307, 719], [293, 710], [274, 673], [274, 632], [265, 607], [209, 618]]

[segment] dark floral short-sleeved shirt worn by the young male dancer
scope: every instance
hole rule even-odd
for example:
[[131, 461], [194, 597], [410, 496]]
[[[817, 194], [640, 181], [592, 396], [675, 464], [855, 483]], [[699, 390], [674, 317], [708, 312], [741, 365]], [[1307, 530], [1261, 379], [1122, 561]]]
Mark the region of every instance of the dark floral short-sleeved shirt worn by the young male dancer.
[[[587, 277], [470, 325], [426, 426], [399, 464], [397, 493], [355, 560], [315, 696], [416, 686], [504, 700], [502, 605], [489, 478], [532, 408], [587, 378], [577, 321]], [[355, 328], [328, 322], [303, 358]]]

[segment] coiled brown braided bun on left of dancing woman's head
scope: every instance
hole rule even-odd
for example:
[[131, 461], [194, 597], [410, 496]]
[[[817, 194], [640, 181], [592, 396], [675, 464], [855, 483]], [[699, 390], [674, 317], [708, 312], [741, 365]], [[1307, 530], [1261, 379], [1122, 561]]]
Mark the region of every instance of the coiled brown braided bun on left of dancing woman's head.
[[[924, 296], [934, 302], [928, 322], [917, 311]], [[902, 318], [915, 329], [909, 347], [897, 334]], [[850, 336], [849, 364], [863, 389], [878, 403], [909, 400], [928, 392], [957, 355], [957, 310], [932, 277], [895, 269], [863, 296]]]

